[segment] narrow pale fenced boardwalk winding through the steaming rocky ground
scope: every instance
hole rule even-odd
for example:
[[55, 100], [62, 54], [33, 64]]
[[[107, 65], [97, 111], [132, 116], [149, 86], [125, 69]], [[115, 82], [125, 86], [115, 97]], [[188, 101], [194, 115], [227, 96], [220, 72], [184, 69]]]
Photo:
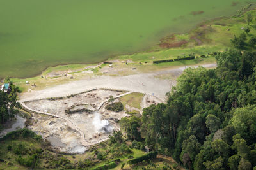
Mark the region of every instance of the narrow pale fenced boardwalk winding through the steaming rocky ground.
[[[118, 98], [118, 97], [122, 97], [122, 96], [125, 96], [127, 94], [131, 94], [132, 92], [126, 92], [124, 94], [120, 94], [118, 96], [115, 96], [114, 99]], [[97, 107], [97, 111], [103, 106], [104, 103], [106, 103], [108, 101], [108, 99], [102, 101], [102, 103], [100, 103], [100, 105]], [[42, 112], [42, 111], [38, 111], [38, 110], [34, 110], [33, 108], [29, 108], [25, 103], [23, 103], [22, 101], [19, 101], [21, 106], [23, 108], [25, 108], [26, 110], [28, 111], [32, 111], [32, 112], [35, 112], [35, 113], [39, 113], [39, 114], [44, 114], [44, 115], [49, 115], [49, 116], [52, 116], [52, 117], [57, 117], [57, 118], [62, 118], [63, 120], [67, 121], [68, 122], [68, 126], [71, 127], [72, 129], [75, 129], [77, 132], [79, 132], [79, 134], [81, 135], [81, 138], [80, 138], [80, 141], [79, 143], [83, 146], [92, 146], [92, 145], [96, 145], [98, 143], [101, 143], [103, 141], [106, 141], [108, 140], [109, 138], [104, 138], [104, 139], [101, 139], [99, 141], [96, 141], [96, 142], [90, 142], [90, 141], [87, 141], [86, 139], [86, 136], [84, 134], [83, 131], [81, 131], [81, 129], [79, 129], [79, 127], [77, 127], [77, 125], [72, 122], [72, 120], [70, 120], [69, 118], [67, 117], [61, 117], [60, 115], [56, 115], [56, 114], [52, 114], [52, 113], [47, 113], [47, 112]]]

